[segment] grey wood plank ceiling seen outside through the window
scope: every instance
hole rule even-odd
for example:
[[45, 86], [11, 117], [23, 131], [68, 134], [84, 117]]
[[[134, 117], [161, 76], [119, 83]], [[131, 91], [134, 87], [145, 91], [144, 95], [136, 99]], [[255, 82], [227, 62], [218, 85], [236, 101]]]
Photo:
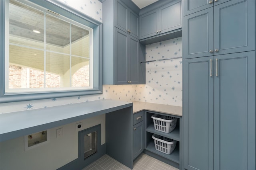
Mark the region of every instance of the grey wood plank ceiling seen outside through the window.
[[[14, 37], [23, 37], [44, 43], [44, 12], [26, 6], [17, 1], [10, 1], [9, 33]], [[33, 30], [40, 31], [34, 33]], [[89, 31], [72, 24], [72, 40], [74, 42]], [[70, 44], [70, 23], [50, 14], [46, 14], [46, 43], [65, 47]]]

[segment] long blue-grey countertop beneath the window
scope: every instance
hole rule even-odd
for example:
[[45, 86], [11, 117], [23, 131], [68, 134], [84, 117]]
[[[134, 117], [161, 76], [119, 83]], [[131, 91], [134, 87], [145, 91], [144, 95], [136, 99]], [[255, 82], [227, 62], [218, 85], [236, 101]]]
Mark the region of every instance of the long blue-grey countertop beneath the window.
[[[94, 107], [95, 105], [97, 107]], [[88, 106], [90, 106], [90, 108]], [[0, 114], [0, 142], [132, 106], [132, 102], [105, 99], [79, 104], [48, 107], [47, 109], [3, 113]], [[68, 114], [70, 110], [74, 111], [74, 108], [77, 108], [78, 113], [74, 115]], [[56, 110], [58, 110], [58, 113], [56, 113]], [[38, 120], [42, 117], [44, 120]]]

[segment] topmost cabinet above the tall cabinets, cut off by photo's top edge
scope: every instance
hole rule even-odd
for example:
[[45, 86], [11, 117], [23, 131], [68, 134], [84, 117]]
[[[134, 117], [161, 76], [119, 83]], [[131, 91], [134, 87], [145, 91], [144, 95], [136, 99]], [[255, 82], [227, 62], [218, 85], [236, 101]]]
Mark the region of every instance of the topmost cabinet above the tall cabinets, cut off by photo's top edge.
[[205, 10], [230, 0], [183, 0], [183, 16]]

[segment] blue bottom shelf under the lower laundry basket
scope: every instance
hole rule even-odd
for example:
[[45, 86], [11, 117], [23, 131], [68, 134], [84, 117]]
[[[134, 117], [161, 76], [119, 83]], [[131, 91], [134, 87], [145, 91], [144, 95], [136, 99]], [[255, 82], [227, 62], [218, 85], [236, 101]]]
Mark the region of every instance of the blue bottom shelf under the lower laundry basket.
[[173, 162], [176, 162], [176, 163], [180, 163], [180, 150], [179, 150], [179, 142], [177, 142], [176, 144], [176, 148], [174, 149], [174, 151], [171, 153], [171, 154], [165, 154], [163, 152], [160, 152], [158, 150], [156, 150], [155, 148], [155, 144], [154, 144], [154, 140], [152, 139], [152, 141], [150, 141], [148, 143], [148, 145], [146, 146], [145, 148], [146, 150], [150, 151], [150, 152], [153, 152], [155, 154], [158, 154], [164, 158], [167, 158], [169, 160], [172, 160]]

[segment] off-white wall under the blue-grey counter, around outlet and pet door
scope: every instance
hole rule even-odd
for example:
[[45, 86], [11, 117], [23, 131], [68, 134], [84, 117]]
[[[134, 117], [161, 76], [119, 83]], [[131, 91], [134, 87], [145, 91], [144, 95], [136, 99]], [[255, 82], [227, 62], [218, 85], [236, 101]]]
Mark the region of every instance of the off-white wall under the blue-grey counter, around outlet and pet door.
[[[82, 128], [101, 124], [101, 144], [105, 143], [105, 115], [84, 119]], [[64, 126], [63, 136], [56, 137], [56, 127], [48, 129], [49, 142], [24, 151], [24, 137], [0, 143], [0, 170], [56, 170], [78, 158], [76, 123]]]

